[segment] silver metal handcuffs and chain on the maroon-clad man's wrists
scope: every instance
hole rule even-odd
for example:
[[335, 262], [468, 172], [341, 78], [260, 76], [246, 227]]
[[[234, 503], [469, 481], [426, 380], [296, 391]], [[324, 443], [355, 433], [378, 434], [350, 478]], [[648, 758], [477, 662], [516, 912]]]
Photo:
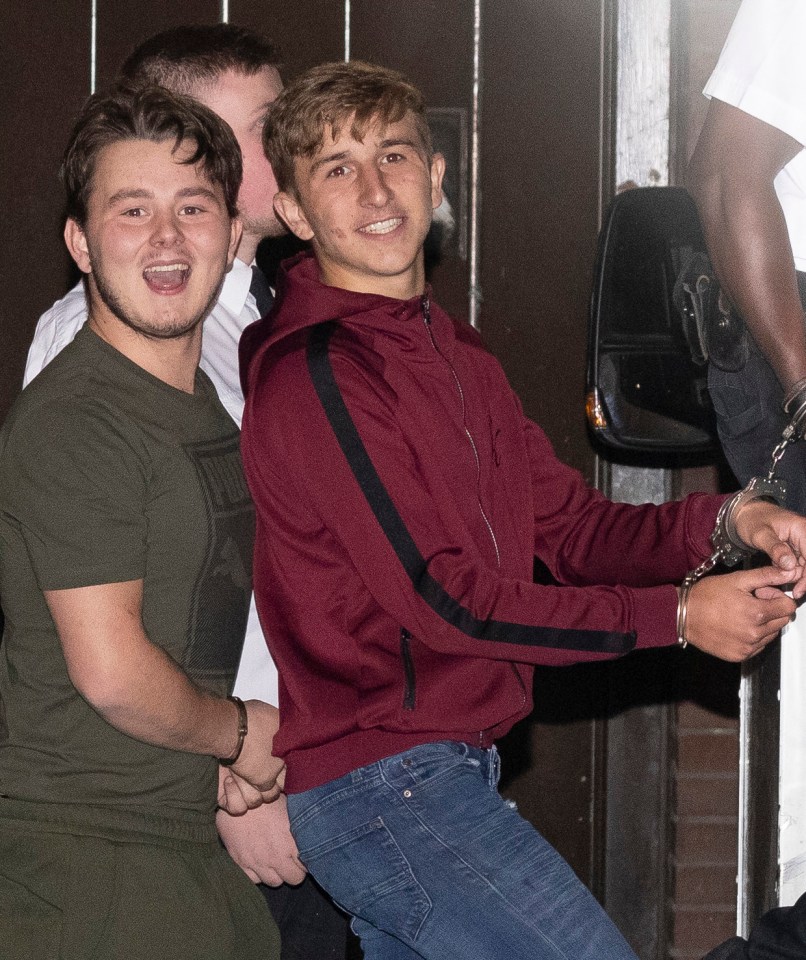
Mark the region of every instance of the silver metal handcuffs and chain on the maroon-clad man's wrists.
[[750, 482], [734, 493], [719, 508], [716, 516], [716, 527], [711, 537], [714, 552], [694, 570], [687, 573], [680, 585], [680, 599], [677, 603], [677, 643], [680, 647], [687, 647], [686, 620], [688, 615], [688, 599], [694, 584], [710, 573], [717, 564], [735, 567], [741, 560], [752, 556], [756, 551], [743, 543], [736, 533], [736, 514], [739, 508], [751, 500], [771, 500], [779, 507], [786, 502], [786, 484], [775, 476], [778, 464], [790, 444], [801, 437], [802, 425], [796, 417], [786, 425], [781, 439], [770, 457], [770, 469], [766, 477], [753, 477]]

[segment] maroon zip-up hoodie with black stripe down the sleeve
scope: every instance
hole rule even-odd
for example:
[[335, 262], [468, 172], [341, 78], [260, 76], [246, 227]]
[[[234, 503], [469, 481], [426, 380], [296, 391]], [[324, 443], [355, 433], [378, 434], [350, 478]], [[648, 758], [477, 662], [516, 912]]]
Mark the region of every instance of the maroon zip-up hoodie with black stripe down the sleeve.
[[[489, 746], [531, 710], [533, 664], [675, 642], [668, 584], [710, 553], [723, 498], [589, 489], [428, 294], [324, 286], [302, 254], [241, 370], [289, 792], [419, 743]], [[532, 582], [535, 555], [560, 586]]]

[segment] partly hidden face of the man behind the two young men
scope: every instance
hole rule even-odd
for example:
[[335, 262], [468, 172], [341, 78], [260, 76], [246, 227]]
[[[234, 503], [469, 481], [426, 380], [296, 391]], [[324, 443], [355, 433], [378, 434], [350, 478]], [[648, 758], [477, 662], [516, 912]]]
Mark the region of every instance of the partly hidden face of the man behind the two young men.
[[263, 123], [271, 104], [283, 88], [274, 67], [246, 74], [227, 70], [215, 83], [193, 91], [196, 99], [232, 127], [243, 156], [243, 183], [238, 208], [243, 221], [243, 240], [238, 256], [251, 263], [264, 237], [283, 233], [274, 213], [277, 183], [263, 152]]

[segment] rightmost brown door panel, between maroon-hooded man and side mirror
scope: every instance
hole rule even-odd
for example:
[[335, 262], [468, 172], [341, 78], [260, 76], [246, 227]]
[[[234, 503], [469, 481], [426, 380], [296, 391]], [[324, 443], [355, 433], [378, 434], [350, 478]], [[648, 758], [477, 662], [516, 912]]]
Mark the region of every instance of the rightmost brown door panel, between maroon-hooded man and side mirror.
[[[583, 418], [599, 217], [601, 0], [486, 0], [481, 331], [560, 459], [592, 473]], [[607, 675], [539, 670], [536, 710], [502, 753], [507, 792], [596, 887]]]

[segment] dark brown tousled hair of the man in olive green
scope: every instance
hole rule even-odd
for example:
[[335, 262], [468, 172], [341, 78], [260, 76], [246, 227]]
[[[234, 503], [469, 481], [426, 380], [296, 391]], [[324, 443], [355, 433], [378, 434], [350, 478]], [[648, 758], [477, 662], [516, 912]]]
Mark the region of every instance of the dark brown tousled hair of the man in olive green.
[[192, 97], [164, 87], [118, 85], [91, 96], [76, 120], [62, 161], [61, 178], [67, 193], [67, 216], [83, 226], [98, 154], [124, 140], [173, 141], [174, 150], [186, 140], [196, 149], [183, 163], [200, 164], [211, 183], [221, 187], [231, 217], [238, 213], [243, 173], [241, 148], [229, 126]]

